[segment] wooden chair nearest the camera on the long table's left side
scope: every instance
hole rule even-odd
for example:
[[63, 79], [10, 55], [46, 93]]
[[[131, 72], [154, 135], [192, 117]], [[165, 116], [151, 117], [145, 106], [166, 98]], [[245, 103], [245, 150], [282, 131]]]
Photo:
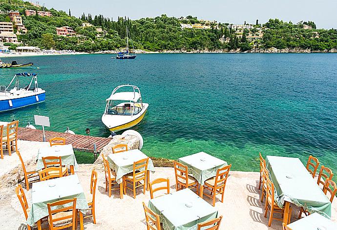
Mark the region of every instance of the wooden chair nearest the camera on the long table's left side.
[[[272, 225], [273, 219], [283, 221], [283, 218], [280, 219], [280, 218], [274, 217], [274, 213], [281, 214], [282, 217], [283, 217], [285, 207], [283, 206], [283, 208], [281, 209], [275, 203], [275, 200], [274, 200], [274, 184], [269, 178], [267, 178], [267, 196], [266, 196], [266, 205], [265, 205], [264, 217], [267, 217], [268, 211], [270, 211], [269, 222], [268, 222], [269, 227]], [[290, 223], [291, 213], [292, 213], [292, 208], [290, 207], [287, 224]]]

